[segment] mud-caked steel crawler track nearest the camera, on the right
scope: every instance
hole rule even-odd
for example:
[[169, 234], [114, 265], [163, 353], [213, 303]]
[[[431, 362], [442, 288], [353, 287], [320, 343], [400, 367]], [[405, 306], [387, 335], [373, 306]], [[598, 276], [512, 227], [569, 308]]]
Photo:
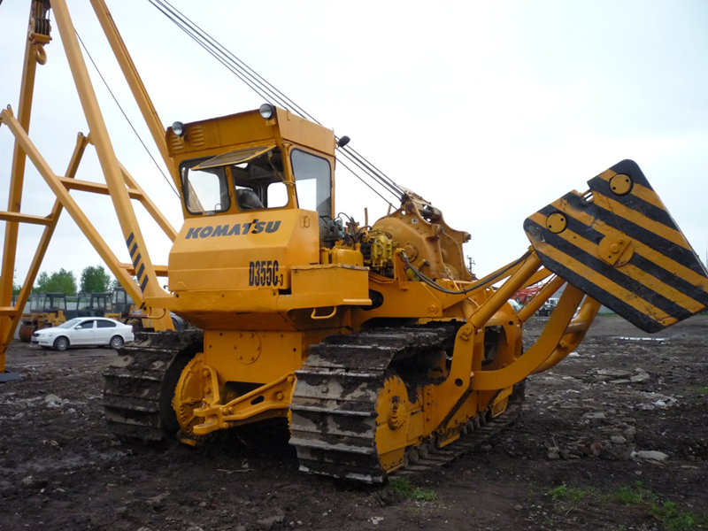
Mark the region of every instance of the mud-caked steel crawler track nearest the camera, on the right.
[[[441, 349], [446, 340], [450, 329], [419, 327], [335, 335], [312, 345], [305, 365], [296, 371], [290, 405], [290, 444], [296, 447], [300, 469], [367, 483], [385, 481], [387, 473], [376, 450], [376, 402], [392, 374], [390, 363]], [[424, 442], [407, 452], [404, 470], [417, 472], [449, 463], [488, 441], [519, 411], [520, 404], [510, 404], [489, 427], [481, 427], [486, 416], [471, 420], [462, 427], [463, 435], [468, 435], [442, 450], [432, 441]]]

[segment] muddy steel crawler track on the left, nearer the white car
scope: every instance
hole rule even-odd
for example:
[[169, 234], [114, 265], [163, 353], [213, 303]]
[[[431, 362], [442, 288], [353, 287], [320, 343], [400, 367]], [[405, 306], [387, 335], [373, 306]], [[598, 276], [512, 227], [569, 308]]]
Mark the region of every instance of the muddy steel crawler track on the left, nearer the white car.
[[[104, 411], [109, 431], [121, 440], [158, 442], [165, 439], [160, 405], [165, 407], [164, 382], [173, 360], [204, 333], [139, 333], [136, 341], [118, 350], [118, 358], [104, 372]], [[165, 392], [173, 392], [167, 389]], [[170, 397], [171, 400], [171, 397]]]

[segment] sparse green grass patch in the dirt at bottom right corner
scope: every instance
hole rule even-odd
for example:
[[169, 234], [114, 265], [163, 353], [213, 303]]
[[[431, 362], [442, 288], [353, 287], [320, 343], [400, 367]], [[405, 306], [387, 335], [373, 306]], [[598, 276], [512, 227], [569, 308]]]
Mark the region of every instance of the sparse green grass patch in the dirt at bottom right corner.
[[[632, 486], [623, 486], [611, 494], [603, 494], [596, 489], [574, 489], [559, 485], [549, 490], [549, 495], [559, 503], [561, 512], [573, 511], [583, 501], [600, 504], [623, 504], [643, 508], [648, 515], [657, 519], [664, 531], [693, 531], [708, 528], [708, 513], [696, 514], [684, 511], [679, 504], [666, 502], [644, 487], [642, 481]], [[621, 527], [620, 527], [621, 528]]]

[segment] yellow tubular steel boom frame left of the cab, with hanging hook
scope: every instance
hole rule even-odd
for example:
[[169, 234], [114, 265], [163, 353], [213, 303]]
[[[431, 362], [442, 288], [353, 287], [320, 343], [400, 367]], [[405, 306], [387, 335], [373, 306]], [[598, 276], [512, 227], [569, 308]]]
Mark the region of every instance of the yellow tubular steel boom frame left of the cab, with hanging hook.
[[[179, 184], [178, 176], [171, 164], [171, 158], [167, 154], [164, 129], [150, 101], [150, 96], [148, 96], [135, 69], [135, 65], [127, 53], [125, 44], [120, 38], [118, 29], [115, 27], [103, 0], [91, 0], [91, 4], [96, 12], [96, 17], [104, 28], [104, 33], [111, 44], [128, 85], [133, 91], [143, 119], [145, 119], [150, 129], [150, 134], [165, 160], [165, 165], [171, 173], [173, 181]], [[50, 165], [42, 158], [42, 154], [29, 137], [36, 67], [46, 62], [47, 56], [44, 51], [44, 45], [51, 40], [48, 17], [50, 9], [55, 14], [66, 58], [68, 59], [74, 84], [90, 130], [90, 134], [87, 136], [81, 135], [81, 133], [78, 135], [72, 158], [64, 176], [59, 176], [52, 171]], [[3, 381], [9, 379], [9, 377], [3, 378], [4, 375], [7, 376], [7, 373], [5, 373], [7, 347], [12, 342], [15, 329], [19, 325], [19, 319], [22, 316], [25, 304], [27, 304], [36, 275], [42, 265], [42, 259], [46, 254], [51, 236], [54, 234], [63, 210], [66, 210], [71, 215], [127, 293], [137, 304], [142, 304], [143, 307], [146, 296], [164, 299], [165, 297], [170, 297], [170, 295], [158, 283], [158, 276], [166, 276], [166, 267], [152, 264], [131, 200], [137, 199], [141, 202], [145, 210], [150, 213], [151, 217], [171, 241], [176, 238], [177, 231], [165, 219], [162, 212], [159, 211], [158, 207], [150, 200], [150, 197], [116, 157], [65, 0], [32, 1], [18, 115], [15, 117], [12, 109], [8, 106], [7, 109], [0, 112], [0, 125], [6, 126], [15, 138], [7, 211], [0, 212], [0, 220], [5, 222], [4, 254], [2, 275], [0, 276], [0, 381]], [[75, 179], [84, 150], [86, 150], [89, 143], [96, 148], [96, 154], [104, 173], [105, 184]], [[44, 217], [21, 212], [27, 158], [35, 165], [44, 181], [47, 182], [52, 192], [57, 196], [50, 213]], [[111, 197], [118, 215], [121, 231], [127, 242], [128, 251], [133, 259], [132, 264], [121, 263], [115, 256], [108, 244], [96, 231], [96, 227], [91, 224], [79, 204], [70, 195], [69, 192], [73, 189]], [[35, 250], [35, 256], [27, 272], [25, 282], [20, 289], [16, 303], [13, 305], [12, 288], [20, 223], [41, 225], [44, 227], [44, 231]], [[133, 279], [132, 275], [135, 274], [139, 277], [140, 285], [136, 284]], [[161, 308], [146, 308], [146, 310], [157, 330], [173, 328], [169, 312]]]

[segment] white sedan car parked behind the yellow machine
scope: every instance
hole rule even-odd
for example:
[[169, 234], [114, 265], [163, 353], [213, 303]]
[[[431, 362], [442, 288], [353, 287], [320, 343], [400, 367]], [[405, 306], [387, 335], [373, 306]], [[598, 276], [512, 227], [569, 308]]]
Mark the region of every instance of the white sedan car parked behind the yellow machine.
[[118, 349], [135, 339], [133, 327], [103, 317], [77, 317], [58, 327], [43, 328], [32, 335], [31, 343], [42, 349], [66, 350], [69, 347], [108, 345]]

